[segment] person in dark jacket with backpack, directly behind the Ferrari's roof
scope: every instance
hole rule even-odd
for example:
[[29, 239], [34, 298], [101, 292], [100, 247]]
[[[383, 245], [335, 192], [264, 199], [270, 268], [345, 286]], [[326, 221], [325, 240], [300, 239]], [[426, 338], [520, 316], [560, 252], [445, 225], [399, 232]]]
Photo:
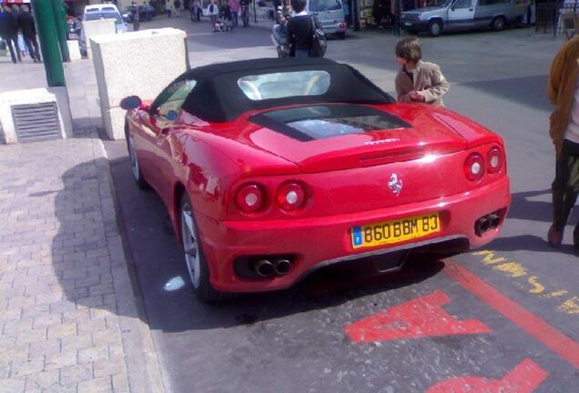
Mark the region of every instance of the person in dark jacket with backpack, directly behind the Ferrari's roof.
[[310, 57], [313, 45], [314, 24], [321, 28], [318, 20], [304, 9], [306, 0], [292, 0], [291, 6], [296, 13], [288, 22], [288, 38], [290, 40], [290, 56]]

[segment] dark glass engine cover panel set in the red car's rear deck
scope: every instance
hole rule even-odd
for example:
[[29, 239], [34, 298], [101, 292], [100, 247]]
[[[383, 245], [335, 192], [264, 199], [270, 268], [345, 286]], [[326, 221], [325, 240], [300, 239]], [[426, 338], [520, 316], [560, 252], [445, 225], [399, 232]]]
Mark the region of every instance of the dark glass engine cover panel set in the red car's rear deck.
[[279, 109], [252, 116], [249, 121], [302, 142], [410, 126], [386, 112], [355, 105]]

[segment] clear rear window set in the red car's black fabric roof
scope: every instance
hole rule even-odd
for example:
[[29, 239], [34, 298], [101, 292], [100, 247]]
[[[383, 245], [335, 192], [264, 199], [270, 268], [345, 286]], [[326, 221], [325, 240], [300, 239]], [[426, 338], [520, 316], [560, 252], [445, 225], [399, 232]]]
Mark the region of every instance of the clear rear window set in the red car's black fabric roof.
[[330, 88], [330, 74], [314, 70], [243, 76], [239, 78], [238, 86], [252, 101], [321, 96]]

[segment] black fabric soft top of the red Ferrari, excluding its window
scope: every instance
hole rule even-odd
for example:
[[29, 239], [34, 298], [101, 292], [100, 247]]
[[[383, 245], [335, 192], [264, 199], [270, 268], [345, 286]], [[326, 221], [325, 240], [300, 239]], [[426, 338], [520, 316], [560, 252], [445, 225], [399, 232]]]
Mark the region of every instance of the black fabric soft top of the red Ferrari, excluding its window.
[[[319, 96], [290, 96], [251, 100], [238, 86], [242, 76], [320, 70], [330, 74], [328, 91]], [[390, 104], [394, 99], [351, 67], [324, 58], [263, 58], [205, 65], [187, 71], [178, 80], [195, 80], [183, 109], [210, 122], [228, 122], [256, 109], [317, 103]]]

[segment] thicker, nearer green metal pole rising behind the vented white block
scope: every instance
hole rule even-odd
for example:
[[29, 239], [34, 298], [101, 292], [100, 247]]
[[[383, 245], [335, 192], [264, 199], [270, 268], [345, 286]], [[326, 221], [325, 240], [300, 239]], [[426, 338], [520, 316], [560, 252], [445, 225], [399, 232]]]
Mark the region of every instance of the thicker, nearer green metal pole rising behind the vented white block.
[[49, 0], [32, 0], [35, 13], [36, 30], [45, 62], [46, 81], [48, 86], [65, 86], [65, 71], [58, 49], [58, 34], [52, 2]]

